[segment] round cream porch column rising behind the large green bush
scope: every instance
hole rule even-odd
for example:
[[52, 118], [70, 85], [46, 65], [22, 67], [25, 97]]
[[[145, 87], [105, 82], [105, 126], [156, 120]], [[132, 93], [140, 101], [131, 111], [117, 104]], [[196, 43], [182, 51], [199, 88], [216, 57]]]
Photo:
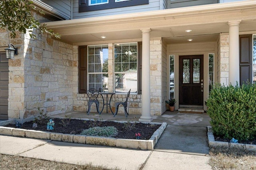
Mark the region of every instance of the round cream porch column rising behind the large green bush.
[[240, 21], [230, 21], [229, 25], [229, 69], [228, 81], [233, 86], [240, 84], [239, 74], [239, 23]]

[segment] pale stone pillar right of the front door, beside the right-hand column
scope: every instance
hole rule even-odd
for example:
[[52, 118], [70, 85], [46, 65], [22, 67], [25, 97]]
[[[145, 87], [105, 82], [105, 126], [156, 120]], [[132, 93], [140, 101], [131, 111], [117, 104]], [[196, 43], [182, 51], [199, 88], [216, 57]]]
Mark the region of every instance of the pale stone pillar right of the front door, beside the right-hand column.
[[220, 34], [220, 84], [228, 86], [228, 63], [229, 63], [229, 38], [228, 34]]

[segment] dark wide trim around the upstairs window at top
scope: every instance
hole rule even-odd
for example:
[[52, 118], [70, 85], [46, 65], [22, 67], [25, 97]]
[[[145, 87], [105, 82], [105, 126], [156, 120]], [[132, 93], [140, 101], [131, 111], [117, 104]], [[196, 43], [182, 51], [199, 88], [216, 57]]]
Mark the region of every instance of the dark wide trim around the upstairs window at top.
[[112, 8], [122, 8], [128, 6], [137, 6], [149, 4], [149, 0], [126, 0], [115, 2], [115, 0], [108, 0], [108, 4], [98, 4], [89, 6], [88, 0], [79, 0], [79, 9], [78, 12], [88, 12], [88, 11], [96, 11], [96, 10], [106, 10]]

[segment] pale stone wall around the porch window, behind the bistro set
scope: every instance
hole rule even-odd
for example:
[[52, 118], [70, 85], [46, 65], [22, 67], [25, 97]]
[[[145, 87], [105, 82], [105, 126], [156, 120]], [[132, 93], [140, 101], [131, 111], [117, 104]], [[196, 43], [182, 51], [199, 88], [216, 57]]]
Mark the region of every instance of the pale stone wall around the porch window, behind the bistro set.
[[[108, 44], [108, 90], [109, 92], [114, 91], [114, 55], [113, 55], [113, 44]], [[74, 53], [75, 54], [75, 53]], [[77, 53], [76, 53], [77, 55]], [[78, 78], [78, 72], [76, 72], [76, 78]], [[161, 98], [162, 98], [162, 40], [152, 40], [150, 41], [150, 93], [151, 93], [151, 115], [161, 114]], [[74, 106], [73, 109], [77, 111], [87, 111], [88, 110], [88, 97], [87, 94], [78, 94], [76, 88], [74, 87]], [[110, 97], [110, 96], [109, 96]], [[104, 96], [106, 101], [106, 96]], [[126, 94], [114, 94], [112, 96], [111, 108], [115, 111], [114, 103], [126, 100]], [[100, 110], [102, 109], [102, 98], [99, 97]], [[128, 99], [128, 113], [138, 114], [142, 113], [142, 98], [141, 95], [130, 94]], [[96, 112], [95, 104], [91, 107], [92, 112]], [[106, 106], [104, 107], [103, 113], [106, 113]], [[110, 109], [108, 107], [108, 113]], [[118, 109], [118, 114], [124, 113], [122, 106]]]

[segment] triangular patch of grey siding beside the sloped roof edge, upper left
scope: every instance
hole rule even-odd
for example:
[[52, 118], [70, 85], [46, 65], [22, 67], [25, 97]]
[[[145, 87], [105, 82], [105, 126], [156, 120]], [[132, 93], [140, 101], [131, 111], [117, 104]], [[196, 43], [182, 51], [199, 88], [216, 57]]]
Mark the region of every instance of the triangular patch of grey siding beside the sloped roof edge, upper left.
[[42, 0], [71, 19], [71, 0]]

